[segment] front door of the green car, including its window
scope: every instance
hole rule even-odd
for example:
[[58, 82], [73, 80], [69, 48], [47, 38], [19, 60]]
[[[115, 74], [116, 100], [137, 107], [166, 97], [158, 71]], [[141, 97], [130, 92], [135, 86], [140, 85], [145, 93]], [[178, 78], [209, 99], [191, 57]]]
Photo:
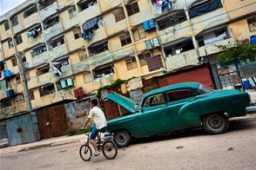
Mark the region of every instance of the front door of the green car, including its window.
[[139, 137], [169, 132], [172, 121], [162, 94], [149, 96], [138, 114]]

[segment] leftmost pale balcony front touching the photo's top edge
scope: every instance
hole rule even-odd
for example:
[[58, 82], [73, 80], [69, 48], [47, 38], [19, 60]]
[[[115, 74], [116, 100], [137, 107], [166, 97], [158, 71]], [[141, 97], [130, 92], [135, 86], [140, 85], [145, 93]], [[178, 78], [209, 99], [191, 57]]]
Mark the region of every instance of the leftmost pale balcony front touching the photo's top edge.
[[[47, 3], [51, 2], [51, 3]], [[42, 3], [39, 5], [39, 14], [41, 16], [41, 20], [44, 21], [44, 19], [48, 16], [51, 16], [55, 13], [57, 13], [57, 2], [56, 0], [46, 0], [45, 3]]]

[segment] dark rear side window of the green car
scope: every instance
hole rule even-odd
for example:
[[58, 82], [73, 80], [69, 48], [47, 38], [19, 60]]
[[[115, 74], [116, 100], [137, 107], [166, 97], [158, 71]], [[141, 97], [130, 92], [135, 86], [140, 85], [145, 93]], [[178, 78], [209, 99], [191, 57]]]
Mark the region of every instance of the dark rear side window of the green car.
[[192, 97], [192, 91], [190, 89], [175, 90], [167, 93], [169, 101], [178, 101], [188, 97]]

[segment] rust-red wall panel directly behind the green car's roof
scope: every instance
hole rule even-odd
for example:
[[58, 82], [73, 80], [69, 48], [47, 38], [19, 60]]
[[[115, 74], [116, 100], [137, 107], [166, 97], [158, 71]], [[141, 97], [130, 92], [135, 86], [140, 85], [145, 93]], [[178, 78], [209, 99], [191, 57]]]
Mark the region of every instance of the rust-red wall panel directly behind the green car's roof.
[[212, 82], [211, 71], [206, 64], [193, 69], [185, 69], [158, 79], [160, 88], [180, 82], [199, 82], [209, 88], [215, 88]]

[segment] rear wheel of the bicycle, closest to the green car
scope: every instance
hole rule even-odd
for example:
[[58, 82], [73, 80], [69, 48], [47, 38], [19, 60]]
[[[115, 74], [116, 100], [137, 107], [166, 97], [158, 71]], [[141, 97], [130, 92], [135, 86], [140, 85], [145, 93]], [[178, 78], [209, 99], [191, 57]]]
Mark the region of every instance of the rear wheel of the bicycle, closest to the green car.
[[105, 141], [102, 148], [104, 157], [108, 160], [112, 160], [118, 155], [118, 147], [113, 141]]

